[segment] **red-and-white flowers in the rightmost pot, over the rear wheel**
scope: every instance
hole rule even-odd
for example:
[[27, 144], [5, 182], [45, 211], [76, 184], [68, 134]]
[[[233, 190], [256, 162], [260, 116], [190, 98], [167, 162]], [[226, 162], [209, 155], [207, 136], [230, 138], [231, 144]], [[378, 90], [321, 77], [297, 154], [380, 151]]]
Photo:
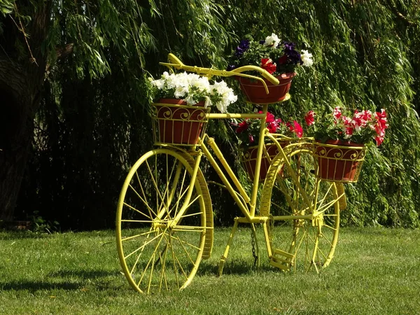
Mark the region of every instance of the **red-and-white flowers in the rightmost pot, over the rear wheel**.
[[377, 146], [380, 146], [384, 141], [385, 130], [388, 127], [384, 109], [376, 113], [365, 109], [352, 113], [335, 107], [332, 113], [322, 118], [319, 118], [314, 111], [309, 111], [304, 119], [307, 126], [311, 128], [309, 133], [322, 143], [332, 139], [366, 144], [374, 139]]

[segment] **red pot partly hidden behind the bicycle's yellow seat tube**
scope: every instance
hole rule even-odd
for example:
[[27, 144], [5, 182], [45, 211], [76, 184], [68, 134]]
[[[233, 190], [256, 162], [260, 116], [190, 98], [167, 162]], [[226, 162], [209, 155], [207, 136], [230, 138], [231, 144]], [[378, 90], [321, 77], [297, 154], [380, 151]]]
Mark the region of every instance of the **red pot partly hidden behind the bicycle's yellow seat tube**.
[[[290, 141], [282, 141], [280, 143], [281, 147], [284, 148], [290, 143]], [[265, 148], [267, 149], [267, 153], [269, 155], [269, 159], [265, 154], [262, 155], [261, 158], [261, 166], [260, 166], [260, 181], [263, 181], [267, 176], [267, 172], [269, 169], [269, 165], [271, 164], [271, 160], [279, 153], [276, 144], [266, 144]], [[244, 156], [242, 157], [242, 162], [244, 163], [246, 172], [249, 175], [249, 178], [253, 180], [255, 178], [255, 166], [257, 164], [257, 157], [258, 157], [258, 146], [251, 146], [248, 148]], [[280, 173], [283, 173], [283, 167], [281, 168]]]

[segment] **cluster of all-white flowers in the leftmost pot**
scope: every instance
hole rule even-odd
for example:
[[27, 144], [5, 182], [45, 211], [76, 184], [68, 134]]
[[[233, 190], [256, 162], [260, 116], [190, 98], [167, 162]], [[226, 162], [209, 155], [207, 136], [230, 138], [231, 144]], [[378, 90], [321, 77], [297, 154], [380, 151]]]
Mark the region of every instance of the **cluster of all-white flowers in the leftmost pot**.
[[196, 73], [171, 73], [165, 71], [161, 78], [153, 80], [153, 102], [159, 99], [183, 99], [188, 105], [193, 106], [204, 101], [204, 106], [215, 105], [219, 111], [225, 113], [228, 106], [237, 101], [237, 95], [221, 80], [210, 83], [206, 76]]

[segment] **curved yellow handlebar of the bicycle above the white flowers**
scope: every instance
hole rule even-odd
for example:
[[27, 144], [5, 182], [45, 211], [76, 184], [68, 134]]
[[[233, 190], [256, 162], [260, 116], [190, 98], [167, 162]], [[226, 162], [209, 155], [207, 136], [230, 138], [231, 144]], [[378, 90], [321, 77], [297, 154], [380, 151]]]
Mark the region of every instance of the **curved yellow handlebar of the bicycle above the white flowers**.
[[176, 57], [174, 54], [169, 53], [168, 55], [169, 63], [167, 62], [160, 62], [159, 64], [162, 64], [162, 66], [168, 66], [169, 68], [173, 67], [178, 70], [186, 70], [189, 72], [195, 72], [197, 74], [204, 74], [207, 76], [243, 76], [245, 78], [252, 78], [254, 80], [259, 80], [265, 87], [265, 92], [268, 94], [268, 87], [265, 83], [265, 80], [258, 76], [251, 76], [249, 74], [242, 73], [244, 71], [258, 71], [261, 73], [261, 75], [269, 80], [269, 82], [273, 83], [274, 85], [279, 84], [279, 80], [277, 78], [274, 78], [268, 71], [265, 69], [260, 68], [259, 66], [241, 66], [237, 69], [233, 69], [232, 71], [226, 71], [226, 70], [217, 70], [217, 69], [209, 69], [209, 68], [202, 68], [200, 66], [186, 66], [181, 62], [178, 57]]

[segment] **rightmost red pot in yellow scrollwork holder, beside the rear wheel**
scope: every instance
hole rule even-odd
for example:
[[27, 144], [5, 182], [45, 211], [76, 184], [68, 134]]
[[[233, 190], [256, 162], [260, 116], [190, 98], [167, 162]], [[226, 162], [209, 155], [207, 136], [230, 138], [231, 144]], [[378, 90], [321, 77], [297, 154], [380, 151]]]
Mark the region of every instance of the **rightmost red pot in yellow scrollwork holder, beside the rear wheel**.
[[358, 181], [366, 148], [363, 144], [328, 140], [326, 144], [315, 142], [314, 155], [318, 158], [316, 176], [325, 181], [354, 183]]

